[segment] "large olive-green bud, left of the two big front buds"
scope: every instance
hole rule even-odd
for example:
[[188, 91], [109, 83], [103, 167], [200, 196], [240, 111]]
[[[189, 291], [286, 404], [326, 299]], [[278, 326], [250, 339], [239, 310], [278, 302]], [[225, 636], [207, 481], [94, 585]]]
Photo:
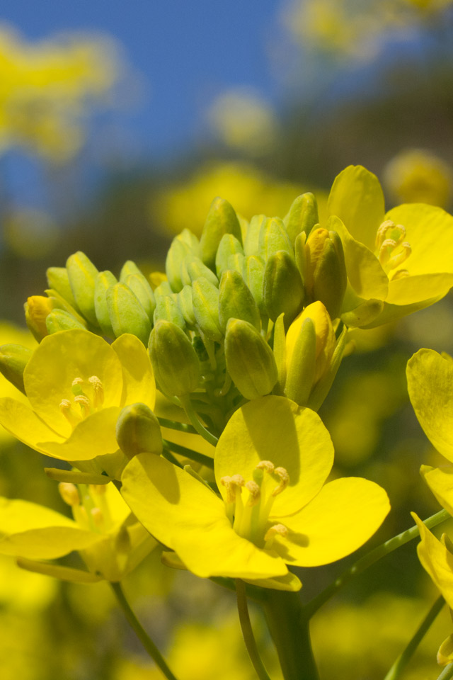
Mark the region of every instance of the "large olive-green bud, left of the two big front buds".
[[180, 327], [170, 321], [158, 321], [149, 336], [148, 351], [162, 392], [171, 397], [181, 397], [197, 389], [200, 362]]

